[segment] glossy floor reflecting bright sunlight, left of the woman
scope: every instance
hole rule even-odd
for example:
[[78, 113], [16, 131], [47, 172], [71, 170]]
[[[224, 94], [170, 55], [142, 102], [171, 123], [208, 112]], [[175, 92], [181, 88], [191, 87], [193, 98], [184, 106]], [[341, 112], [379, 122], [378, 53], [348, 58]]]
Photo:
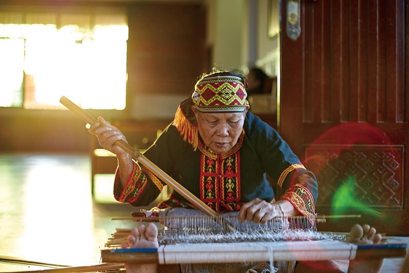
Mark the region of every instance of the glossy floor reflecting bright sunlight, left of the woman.
[[[0, 154], [0, 256], [82, 266], [100, 262], [112, 221], [139, 208], [112, 201], [112, 177], [91, 195], [89, 155]], [[108, 175], [109, 176], [109, 175]], [[409, 242], [409, 238], [395, 238]], [[382, 272], [397, 272], [403, 259], [388, 259]], [[343, 267], [348, 261], [339, 261]], [[0, 262], [0, 272], [43, 269]]]

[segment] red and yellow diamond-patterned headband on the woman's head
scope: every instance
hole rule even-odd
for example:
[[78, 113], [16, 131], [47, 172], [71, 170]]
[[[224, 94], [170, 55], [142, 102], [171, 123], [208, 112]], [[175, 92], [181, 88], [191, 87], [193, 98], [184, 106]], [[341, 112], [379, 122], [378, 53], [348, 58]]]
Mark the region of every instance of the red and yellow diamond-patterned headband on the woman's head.
[[237, 76], [208, 76], [196, 83], [193, 103], [201, 112], [242, 112], [248, 106], [245, 83]]

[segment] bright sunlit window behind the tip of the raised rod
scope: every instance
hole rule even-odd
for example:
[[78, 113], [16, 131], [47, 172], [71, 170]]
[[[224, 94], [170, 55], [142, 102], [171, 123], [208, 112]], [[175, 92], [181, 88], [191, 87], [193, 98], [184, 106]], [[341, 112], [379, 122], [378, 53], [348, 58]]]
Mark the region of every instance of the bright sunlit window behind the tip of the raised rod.
[[0, 12], [0, 107], [124, 109], [127, 39], [124, 14]]

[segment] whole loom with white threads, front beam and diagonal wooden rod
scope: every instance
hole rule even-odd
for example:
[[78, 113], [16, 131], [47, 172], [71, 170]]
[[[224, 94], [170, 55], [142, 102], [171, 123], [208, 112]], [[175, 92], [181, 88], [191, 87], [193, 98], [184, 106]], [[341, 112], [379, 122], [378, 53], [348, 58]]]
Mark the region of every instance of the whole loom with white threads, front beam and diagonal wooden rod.
[[[69, 99], [62, 97], [60, 102], [85, 122], [96, 122], [95, 118]], [[115, 248], [126, 241], [130, 234], [130, 230], [119, 230], [117, 238], [113, 238], [106, 245], [112, 248], [101, 251], [104, 263], [246, 263], [274, 260], [349, 260], [356, 256], [406, 256], [406, 244], [355, 245], [345, 242], [346, 237], [317, 233], [315, 218], [280, 218], [263, 226], [239, 224], [237, 217], [220, 216], [213, 211], [125, 141], [119, 140], [116, 144], [206, 216], [183, 216], [178, 219], [164, 217], [162, 221], [165, 226], [158, 236], [161, 242], [159, 248]], [[294, 236], [296, 234], [297, 236]], [[237, 242], [239, 239], [243, 242]], [[308, 241], [301, 241], [302, 239]], [[187, 241], [189, 243], [186, 243]]]

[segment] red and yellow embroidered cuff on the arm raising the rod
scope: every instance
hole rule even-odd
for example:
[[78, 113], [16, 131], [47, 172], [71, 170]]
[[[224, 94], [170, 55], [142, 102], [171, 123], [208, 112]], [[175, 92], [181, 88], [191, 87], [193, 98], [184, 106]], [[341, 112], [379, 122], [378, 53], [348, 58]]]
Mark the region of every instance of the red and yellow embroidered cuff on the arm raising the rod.
[[[115, 176], [115, 182], [114, 182], [114, 190], [113, 190], [113, 195], [115, 199], [119, 202], [122, 203], [129, 203], [132, 205], [139, 205], [140, 203], [150, 203], [150, 198], [147, 199], [146, 196], [141, 199], [141, 194], [144, 192], [145, 188], [150, 186], [150, 183], [153, 183], [154, 187], [156, 188], [155, 193], [159, 193], [162, 191], [163, 184], [161, 181], [153, 175], [149, 170], [147, 170], [144, 166], [142, 168], [135, 162], [133, 162], [133, 167], [132, 167], [132, 172], [129, 176], [128, 181], [125, 184], [125, 187], [122, 188], [120, 180], [119, 180], [119, 174], [118, 171]], [[151, 191], [150, 191], [151, 192]], [[157, 196], [156, 194], [156, 196]], [[146, 194], [151, 196], [151, 194]], [[148, 201], [145, 201], [148, 200]], [[137, 202], [141, 201], [141, 202]]]

